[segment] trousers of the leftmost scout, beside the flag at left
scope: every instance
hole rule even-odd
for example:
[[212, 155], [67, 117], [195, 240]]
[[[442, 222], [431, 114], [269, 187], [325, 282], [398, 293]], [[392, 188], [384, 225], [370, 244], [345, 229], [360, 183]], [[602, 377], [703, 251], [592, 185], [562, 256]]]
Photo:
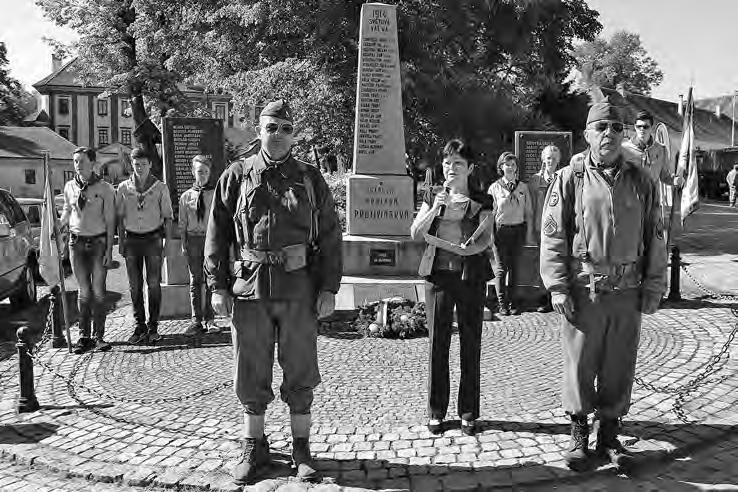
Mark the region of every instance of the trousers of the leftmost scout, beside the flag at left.
[[69, 238], [70, 262], [78, 286], [80, 338], [90, 338], [90, 321], [95, 338], [102, 339], [105, 334], [105, 280], [108, 270], [103, 266], [103, 258], [106, 246], [104, 235], [72, 234]]

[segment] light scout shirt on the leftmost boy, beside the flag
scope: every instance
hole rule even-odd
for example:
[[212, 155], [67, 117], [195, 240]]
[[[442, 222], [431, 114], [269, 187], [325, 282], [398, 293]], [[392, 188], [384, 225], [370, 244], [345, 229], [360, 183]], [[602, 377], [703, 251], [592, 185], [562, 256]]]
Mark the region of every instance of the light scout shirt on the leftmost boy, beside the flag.
[[[79, 196], [85, 194], [84, 208]], [[82, 191], [75, 180], [64, 185], [63, 214], [69, 214], [69, 231], [78, 236], [98, 236], [107, 232], [115, 217], [115, 190], [110, 183], [97, 181]]]

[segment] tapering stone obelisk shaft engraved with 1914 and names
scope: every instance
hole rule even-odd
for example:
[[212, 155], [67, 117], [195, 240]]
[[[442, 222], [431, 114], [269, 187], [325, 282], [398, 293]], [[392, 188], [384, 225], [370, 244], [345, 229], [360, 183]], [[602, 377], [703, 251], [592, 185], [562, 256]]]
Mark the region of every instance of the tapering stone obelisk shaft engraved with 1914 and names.
[[400, 87], [395, 7], [366, 3], [361, 7], [356, 83], [356, 174], [405, 174]]

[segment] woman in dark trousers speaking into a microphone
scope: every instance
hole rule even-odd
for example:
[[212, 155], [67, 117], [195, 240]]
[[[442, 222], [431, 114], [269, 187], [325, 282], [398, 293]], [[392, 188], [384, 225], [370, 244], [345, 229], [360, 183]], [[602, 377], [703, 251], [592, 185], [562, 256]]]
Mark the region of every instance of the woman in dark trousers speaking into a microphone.
[[473, 156], [461, 140], [443, 149], [444, 186], [430, 189], [410, 227], [410, 235], [425, 238], [418, 273], [425, 278], [425, 302], [430, 336], [428, 429], [444, 430], [449, 403], [449, 347], [454, 307], [461, 345], [458, 415], [461, 430], [474, 434], [479, 417], [479, 359], [486, 282], [492, 277], [485, 250], [491, 241], [491, 200], [470, 187]]

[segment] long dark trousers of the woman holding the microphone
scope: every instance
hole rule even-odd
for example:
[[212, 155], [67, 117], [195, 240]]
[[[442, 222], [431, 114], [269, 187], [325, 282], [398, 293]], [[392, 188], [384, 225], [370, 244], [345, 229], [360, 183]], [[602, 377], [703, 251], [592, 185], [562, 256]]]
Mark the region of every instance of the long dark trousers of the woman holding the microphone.
[[458, 414], [464, 420], [479, 417], [479, 358], [482, 344], [484, 282], [461, 280], [460, 272], [433, 273], [425, 284], [426, 316], [430, 337], [428, 413], [443, 419], [450, 392], [448, 356], [454, 306], [461, 345], [461, 381]]

